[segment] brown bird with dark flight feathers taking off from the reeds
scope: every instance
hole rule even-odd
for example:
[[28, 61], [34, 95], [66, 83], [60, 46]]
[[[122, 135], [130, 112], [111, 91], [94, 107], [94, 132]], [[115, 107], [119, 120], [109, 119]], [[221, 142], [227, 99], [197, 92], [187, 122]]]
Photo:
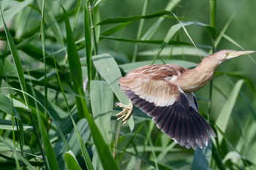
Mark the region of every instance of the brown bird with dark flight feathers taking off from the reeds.
[[198, 112], [196, 90], [209, 82], [220, 63], [254, 50], [220, 50], [203, 58], [194, 69], [175, 64], [141, 66], [118, 80], [129, 104], [116, 103], [122, 111], [116, 117], [127, 123], [133, 104], [149, 117], [157, 128], [187, 149], [201, 149], [216, 137], [214, 130]]

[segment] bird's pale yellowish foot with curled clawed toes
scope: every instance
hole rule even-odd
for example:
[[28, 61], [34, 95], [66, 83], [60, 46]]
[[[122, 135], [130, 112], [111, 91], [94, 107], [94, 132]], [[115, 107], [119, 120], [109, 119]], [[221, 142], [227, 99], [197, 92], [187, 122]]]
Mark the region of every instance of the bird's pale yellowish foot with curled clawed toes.
[[117, 120], [121, 120], [122, 121], [122, 125], [124, 125], [125, 123], [127, 123], [127, 121], [129, 120], [129, 117], [131, 117], [132, 115], [132, 109], [133, 109], [133, 104], [132, 101], [129, 100], [129, 104], [125, 105], [125, 104], [121, 104], [121, 103], [116, 103], [115, 104], [116, 107], [121, 107], [123, 110], [121, 112], [119, 112], [116, 117]]

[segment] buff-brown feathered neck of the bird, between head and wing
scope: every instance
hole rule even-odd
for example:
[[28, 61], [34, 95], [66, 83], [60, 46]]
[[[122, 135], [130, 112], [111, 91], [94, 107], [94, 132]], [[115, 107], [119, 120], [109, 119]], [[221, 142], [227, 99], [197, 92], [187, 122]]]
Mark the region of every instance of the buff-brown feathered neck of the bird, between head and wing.
[[218, 65], [219, 62], [211, 58], [203, 60], [195, 69], [190, 69], [181, 76], [179, 86], [184, 92], [193, 92], [202, 88], [211, 80]]

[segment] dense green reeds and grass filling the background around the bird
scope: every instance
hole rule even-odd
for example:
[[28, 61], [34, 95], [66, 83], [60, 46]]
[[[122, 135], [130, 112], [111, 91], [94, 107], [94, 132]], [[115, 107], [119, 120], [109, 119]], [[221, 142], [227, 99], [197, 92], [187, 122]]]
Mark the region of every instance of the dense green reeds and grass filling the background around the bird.
[[187, 150], [139, 109], [121, 127], [118, 78], [256, 50], [255, 0], [1, 0], [1, 169], [256, 169], [255, 65], [222, 63], [196, 92], [217, 138]]

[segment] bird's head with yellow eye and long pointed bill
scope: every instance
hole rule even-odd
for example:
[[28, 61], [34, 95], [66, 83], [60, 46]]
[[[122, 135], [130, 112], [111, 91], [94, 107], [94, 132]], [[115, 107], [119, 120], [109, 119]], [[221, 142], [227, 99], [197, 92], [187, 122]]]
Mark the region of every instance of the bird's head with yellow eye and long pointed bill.
[[223, 61], [227, 61], [231, 58], [236, 58], [240, 55], [246, 55], [250, 53], [255, 53], [254, 50], [247, 50], [247, 51], [236, 51], [236, 50], [220, 50], [217, 53], [212, 54], [214, 60], [219, 61], [222, 63]]

